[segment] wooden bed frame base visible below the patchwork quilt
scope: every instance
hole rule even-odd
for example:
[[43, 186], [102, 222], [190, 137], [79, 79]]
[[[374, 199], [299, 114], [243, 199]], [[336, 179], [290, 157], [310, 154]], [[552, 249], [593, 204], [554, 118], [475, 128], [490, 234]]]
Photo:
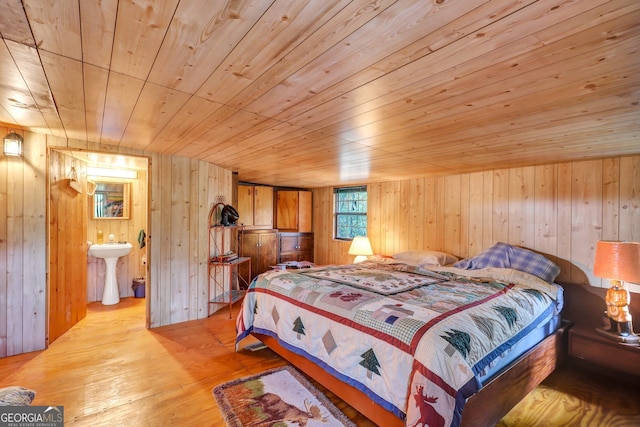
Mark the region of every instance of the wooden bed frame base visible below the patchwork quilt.
[[[547, 378], [564, 359], [566, 328], [563, 325], [542, 340], [471, 396], [462, 412], [462, 426], [495, 425]], [[312, 361], [280, 346], [275, 338], [256, 333], [252, 335], [376, 424], [385, 427], [404, 426], [402, 420], [375, 404], [363, 392], [327, 374]]]

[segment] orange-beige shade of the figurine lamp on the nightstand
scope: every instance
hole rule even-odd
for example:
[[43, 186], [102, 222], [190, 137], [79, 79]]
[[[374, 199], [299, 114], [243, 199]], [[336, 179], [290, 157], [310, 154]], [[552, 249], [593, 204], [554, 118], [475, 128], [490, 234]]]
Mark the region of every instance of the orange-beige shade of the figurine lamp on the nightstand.
[[604, 279], [640, 283], [640, 243], [599, 241], [593, 274]]

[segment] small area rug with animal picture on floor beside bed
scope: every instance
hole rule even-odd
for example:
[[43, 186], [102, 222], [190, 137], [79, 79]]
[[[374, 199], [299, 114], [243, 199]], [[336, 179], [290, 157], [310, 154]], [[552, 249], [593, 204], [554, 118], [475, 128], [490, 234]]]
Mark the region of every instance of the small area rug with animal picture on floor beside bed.
[[290, 366], [220, 384], [213, 389], [213, 396], [230, 427], [355, 427]]

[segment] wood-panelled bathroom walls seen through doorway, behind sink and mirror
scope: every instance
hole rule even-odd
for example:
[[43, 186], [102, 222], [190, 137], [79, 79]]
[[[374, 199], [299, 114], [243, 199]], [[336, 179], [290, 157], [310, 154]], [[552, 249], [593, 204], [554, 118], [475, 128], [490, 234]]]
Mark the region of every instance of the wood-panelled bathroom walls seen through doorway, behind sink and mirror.
[[[104, 260], [88, 255], [98, 230], [105, 242], [113, 236], [114, 241], [128, 241], [133, 246], [129, 255], [118, 260], [120, 297], [136, 297], [134, 280], [139, 285], [144, 278], [149, 288], [149, 166], [147, 157], [68, 148], [49, 150], [47, 345], [86, 316], [87, 304], [102, 299]], [[94, 215], [96, 182], [126, 183], [127, 215]], [[123, 198], [117, 201], [118, 206], [124, 206]], [[145, 304], [148, 313], [148, 302]], [[113, 307], [117, 309], [117, 305]]]

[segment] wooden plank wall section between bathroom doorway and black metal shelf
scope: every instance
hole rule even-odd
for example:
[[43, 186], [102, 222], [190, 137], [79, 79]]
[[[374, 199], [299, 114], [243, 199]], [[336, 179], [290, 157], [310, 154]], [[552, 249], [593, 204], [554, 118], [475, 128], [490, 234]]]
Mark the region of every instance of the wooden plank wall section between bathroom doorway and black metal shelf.
[[232, 173], [211, 163], [151, 155], [150, 327], [207, 317], [208, 216], [232, 198]]

